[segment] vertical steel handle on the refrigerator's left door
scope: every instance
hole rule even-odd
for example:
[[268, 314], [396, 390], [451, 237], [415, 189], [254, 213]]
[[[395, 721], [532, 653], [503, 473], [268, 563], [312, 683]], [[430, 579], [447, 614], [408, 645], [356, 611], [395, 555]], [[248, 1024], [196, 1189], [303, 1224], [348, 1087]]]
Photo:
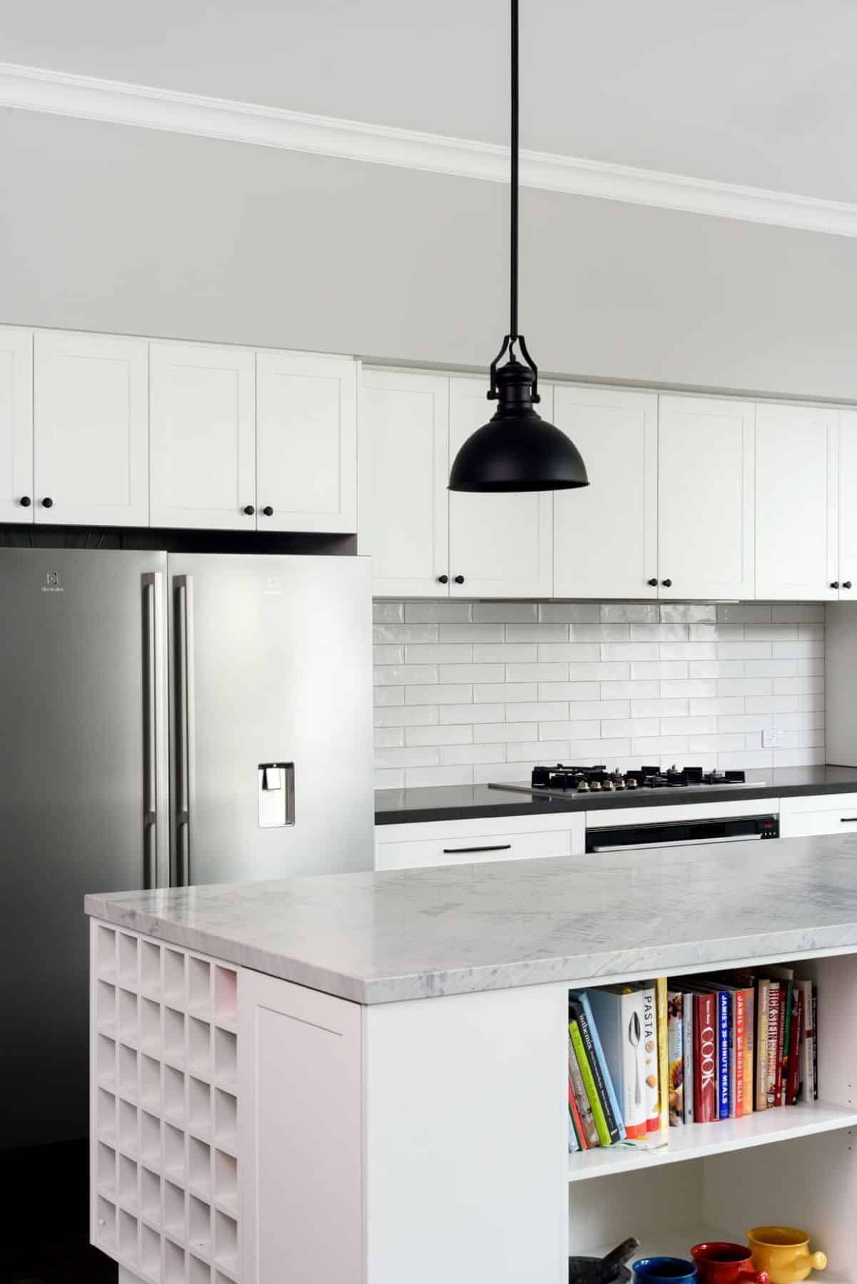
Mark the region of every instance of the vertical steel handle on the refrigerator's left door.
[[143, 575], [143, 886], [161, 882], [161, 779], [163, 773], [162, 577]]

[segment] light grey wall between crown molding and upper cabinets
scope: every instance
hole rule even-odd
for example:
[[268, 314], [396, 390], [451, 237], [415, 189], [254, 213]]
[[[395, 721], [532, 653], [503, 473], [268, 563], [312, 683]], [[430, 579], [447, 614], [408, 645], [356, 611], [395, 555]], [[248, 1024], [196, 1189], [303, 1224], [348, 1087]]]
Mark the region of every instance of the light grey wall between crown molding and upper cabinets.
[[[482, 366], [495, 184], [0, 114], [0, 321]], [[857, 240], [526, 191], [545, 371], [857, 401]]]

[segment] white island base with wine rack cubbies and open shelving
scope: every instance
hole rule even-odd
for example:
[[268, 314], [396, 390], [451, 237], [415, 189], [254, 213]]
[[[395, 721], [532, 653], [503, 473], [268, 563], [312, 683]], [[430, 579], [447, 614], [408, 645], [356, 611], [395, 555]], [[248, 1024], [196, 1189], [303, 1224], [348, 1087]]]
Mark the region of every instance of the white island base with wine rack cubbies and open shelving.
[[564, 1284], [631, 1234], [758, 1224], [857, 1280], [857, 954], [777, 960], [818, 985], [817, 1102], [569, 1156], [574, 980], [365, 1008], [91, 931], [91, 1236], [123, 1284]]

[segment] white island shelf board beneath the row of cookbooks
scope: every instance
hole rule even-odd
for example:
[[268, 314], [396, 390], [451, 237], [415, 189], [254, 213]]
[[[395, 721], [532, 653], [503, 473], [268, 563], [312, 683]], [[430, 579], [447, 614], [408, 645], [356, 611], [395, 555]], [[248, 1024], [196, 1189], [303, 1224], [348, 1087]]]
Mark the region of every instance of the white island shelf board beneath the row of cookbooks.
[[750, 1145], [788, 1141], [795, 1136], [809, 1136], [813, 1132], [829, 1132], [831, 1129], [854, 1125], [857, 1125], [857, 1111], [851, 1107], [829, 1106], [825, 1102], [779, 1106], [768, 1111], [755, 1111], [740, 1120], [671, 1127], [667, 1145], [657, 1150], [626, 1148], [621, 1144], [578, 1150], [568, 1157], [568, 1180], [586, 1181], [590, 1177], [632, 1172], [660, 1163], [700, 1159], [707, 1154], [743, 1150]]

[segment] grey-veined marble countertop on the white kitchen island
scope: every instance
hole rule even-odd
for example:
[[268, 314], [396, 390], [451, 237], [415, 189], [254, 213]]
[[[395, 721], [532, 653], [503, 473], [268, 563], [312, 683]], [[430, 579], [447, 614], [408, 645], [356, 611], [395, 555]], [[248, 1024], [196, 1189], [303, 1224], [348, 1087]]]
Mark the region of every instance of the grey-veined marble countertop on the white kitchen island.
[[857, 951], [857, 835], [90, 895], [356, 1003]]

